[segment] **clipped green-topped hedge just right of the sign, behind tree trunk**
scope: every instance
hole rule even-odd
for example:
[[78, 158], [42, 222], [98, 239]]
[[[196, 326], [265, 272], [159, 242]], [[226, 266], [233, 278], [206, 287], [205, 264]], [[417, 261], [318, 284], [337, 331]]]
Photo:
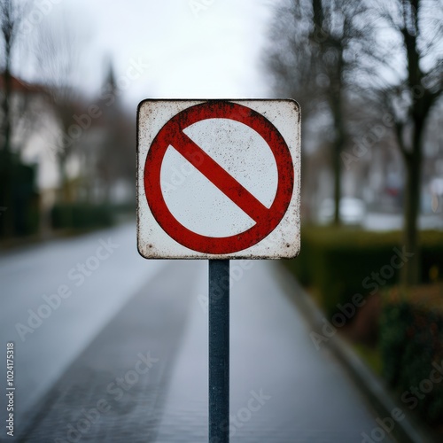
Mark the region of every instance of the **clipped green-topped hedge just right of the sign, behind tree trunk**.
[[[424, 231], [422, 237], [422, 280], [429, 280], [432, 267], [443, 268], [443, 232]], [[288, 266], [306, 286], [315, 286], [328, 315], [337, 305], [351, 301], [355, 293], [367, 296], [384, 285], [398, 282], [400, 270], [377, 283], [372, 273], [390, 266], [392, 257], [401, 251], [401, 233], [375, 233], [360, 229], [303, 227], [299, 257], [288, 260]], [[400, 259], [395, 259], [398, 262]], [[385, 275], [388, 268], [384, 269]]]

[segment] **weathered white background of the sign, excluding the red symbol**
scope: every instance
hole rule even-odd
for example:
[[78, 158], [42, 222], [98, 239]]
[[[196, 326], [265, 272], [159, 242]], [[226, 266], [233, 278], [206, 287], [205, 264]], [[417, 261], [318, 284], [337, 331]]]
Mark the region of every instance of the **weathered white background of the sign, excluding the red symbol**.
[[[290, 258], [299, 253], [300, 114], [293, 100], [229, 100], [253, 109], [284, 137], [291, 153], [294, 185], [284, 218], [268, 237], [247, 249], [229, 254], [207, 254], [177, 243], [159, 226], [147, 203], [144, 167], [159, 130], [184, 109], [206, 100], [145, 100], [138, 110], [137, 239], [145, 258]], [[183, 132], [251, 192], [270, 207], [278, 183], [276, 159], [268, 143], [253, 128], [237, 120], [200, 120]], [[255, 221], [169, 145], [160, 172], [161, 191], [169, 211], [183, 226], [208, 237], [238, 235]]]

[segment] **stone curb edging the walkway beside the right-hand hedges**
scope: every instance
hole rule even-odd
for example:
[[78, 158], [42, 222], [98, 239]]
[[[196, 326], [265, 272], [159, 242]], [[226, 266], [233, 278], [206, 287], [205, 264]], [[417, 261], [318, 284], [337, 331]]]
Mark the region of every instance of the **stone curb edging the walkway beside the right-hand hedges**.
[[[291, 301], [305, 317], [308, 327], [322, 334], [323, 315], [322, 311], [315, 306], [313, 299], [307, 294], [299, 282], [282, 267], [276, 266], [277, 279], [284, 287]], [[417, 423], [414, 417], [408, 414], [405, 407], [392, 399], [383, 382], [361, 361], [343, 338], [335, 334], [328, 339], [323, 346], [330, 349], [338, 361], [343, 364], [352, 378], [354, 385], [369, 401], [369, 405], [382, 419], [391, 416], [393, 408], [400, 408], [405, 418], [396, 422], [391, 436], [401, 443], [433, 443], [439, 441], [431, 436], [431, 432], [424, 429], [422, 424]]]

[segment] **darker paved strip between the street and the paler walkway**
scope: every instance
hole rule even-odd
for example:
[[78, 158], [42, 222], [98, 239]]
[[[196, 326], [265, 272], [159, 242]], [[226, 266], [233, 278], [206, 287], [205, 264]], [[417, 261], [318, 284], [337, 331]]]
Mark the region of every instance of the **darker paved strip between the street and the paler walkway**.
[[154, 440], [198, 274], [189, 261], [165, 265], [53, 381], [20, 441]]

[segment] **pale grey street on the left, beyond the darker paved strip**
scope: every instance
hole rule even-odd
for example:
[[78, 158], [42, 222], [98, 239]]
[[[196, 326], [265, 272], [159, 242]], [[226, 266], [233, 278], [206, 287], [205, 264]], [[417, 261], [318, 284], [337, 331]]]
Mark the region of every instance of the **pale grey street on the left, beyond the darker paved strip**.
[[[15, 343], [18, 429], [27, 409], [161, 266], [138, 255], [132, 224], [0, 253], [0, 337], [4, 353]], [[71, 295], [60, 297], [60, 286], [62, 296]], [[4, 386], [4, 365], [0, 377]], [[0, 408], [2, 423], [4, 415]]]

